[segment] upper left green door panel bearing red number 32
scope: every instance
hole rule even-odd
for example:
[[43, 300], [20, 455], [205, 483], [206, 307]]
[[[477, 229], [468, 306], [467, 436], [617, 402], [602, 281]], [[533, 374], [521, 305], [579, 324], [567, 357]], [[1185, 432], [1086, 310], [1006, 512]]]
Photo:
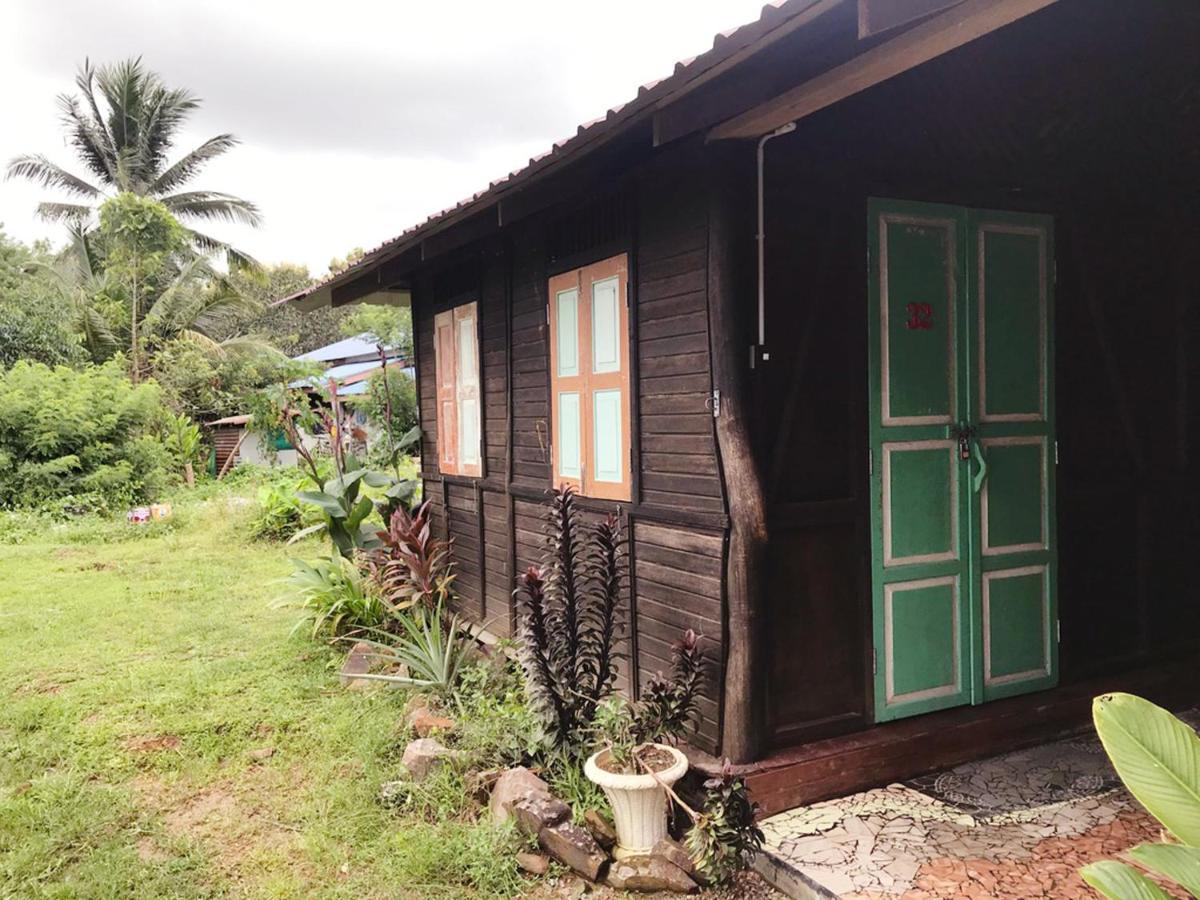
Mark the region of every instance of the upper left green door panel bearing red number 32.
[[955, 220], [936, 214], [884, 214], [882, 218], [886, 425], [944, 425], [954, 420], [955, 234]]

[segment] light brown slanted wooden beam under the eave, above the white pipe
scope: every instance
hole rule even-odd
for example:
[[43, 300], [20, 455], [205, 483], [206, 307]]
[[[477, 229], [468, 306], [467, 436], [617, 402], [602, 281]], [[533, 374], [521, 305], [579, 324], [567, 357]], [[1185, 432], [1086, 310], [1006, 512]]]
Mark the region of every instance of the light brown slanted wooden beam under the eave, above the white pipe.
[[1010, 25], [1057, 0], [967, 0], [708, 132], [709, 140], [757, 138]]

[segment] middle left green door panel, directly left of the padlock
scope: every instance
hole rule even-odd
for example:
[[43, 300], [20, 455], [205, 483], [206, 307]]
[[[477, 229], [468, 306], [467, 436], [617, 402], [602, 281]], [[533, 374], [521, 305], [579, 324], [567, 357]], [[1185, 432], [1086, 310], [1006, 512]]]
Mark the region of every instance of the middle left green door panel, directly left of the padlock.
[[955, 559], [958, 474], [953, 440], [883, 444], [883, 564]]

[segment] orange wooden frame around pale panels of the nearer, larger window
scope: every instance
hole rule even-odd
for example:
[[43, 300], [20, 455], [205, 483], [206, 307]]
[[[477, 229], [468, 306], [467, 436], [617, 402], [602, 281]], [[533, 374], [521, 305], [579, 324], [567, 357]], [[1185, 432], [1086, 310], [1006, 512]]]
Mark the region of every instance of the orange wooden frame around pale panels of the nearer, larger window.
[[[593, 362], [593, 288], [611, 278], [617, 281], [617, 342], [619, 365], [613, 372], [595, 372]], [[558, 296], [570, 290], [577, 292], [576, 304], [576, 371], [559, 374], [559, 310]], [[554, 485], [570, 485], [582, 497], [604, 500], [632, 500], [632, 377], [630, 371], [630, 306], [629, 262], [625, 253], [600, 262], [560, 272], [550, 278], [547, 293], [547, 319], [550, 322], [550, 422], [551, 467]], [[620, 481], [599, 481], [595, 478], [595, 395], [600, 391], [620, 391]], [[577, 392], [580, 419], [580, 474], [564, 475], [560, 469], [563, 440], [560, 434], [559, 397]]]

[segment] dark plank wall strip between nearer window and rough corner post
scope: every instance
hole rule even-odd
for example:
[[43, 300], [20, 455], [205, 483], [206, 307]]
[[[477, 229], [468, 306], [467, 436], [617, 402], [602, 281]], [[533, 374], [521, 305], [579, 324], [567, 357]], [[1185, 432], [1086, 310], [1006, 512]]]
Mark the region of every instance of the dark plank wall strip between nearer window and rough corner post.
[[704, 636], [701, 743], [720, 734], [725, 503], [708, 353], [707, 197], [694, 152], [664, 154], [637, 180], [636, 341], [641, 504], [632, 515], [640, 682], [671, 644]]

